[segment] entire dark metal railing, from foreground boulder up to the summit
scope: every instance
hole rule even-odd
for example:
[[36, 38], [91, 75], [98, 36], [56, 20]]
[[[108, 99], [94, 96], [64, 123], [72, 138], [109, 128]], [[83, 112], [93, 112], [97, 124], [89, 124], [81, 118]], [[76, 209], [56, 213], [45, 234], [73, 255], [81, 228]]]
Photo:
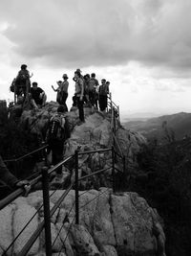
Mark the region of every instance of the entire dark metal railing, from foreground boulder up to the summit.
[[[95, 175], [102, 175], [104, 172], [110, 170], [111, 173], [112, 173], [112, 188], [113, 188], [114, 193], [117, 191], [117, 184], [116, 184], [117, 172], [120, 172], [120, 173], [123, 172], [124, 173], [126, 167], [125, 167], [125, 158], [124, 158], [124, 155], [123, 155], [122, 151], [120, 150], [120, 147], [117, 143], [117, 138], [116, 138], [116, 134], [115, 134], [116, 133], [116, 117], [119, 120], [119, 112], [118, 112], [118, 114], [116, 114], [116, 109], [117, 109], [117, 111], [119, 111], [119, 108], [116, 105], [114, 105], [111, 98], [110, 98], [110, 100], [111, 101], [110, 101], [109, 105], [111, 107], [111, 112], [112, 112], [111, 127], [112, 127], [112, 131], [113, 131], [114, 146], [112, 148], [109, 148], [109, 149], [102, 149], [102, 150], [96, 150], [96, 151], [79, 151], [79, 150], [76, 150], [76, 151], [74, 151], [74, 155], [71, 155], [71, 156], [63, 159], [61, 162], [59, 162], [58, 164], [56, 164], [52, 168], [48, 169], [47, 167], [43, 167], [41, 174], [37, 175], [36, 177], [32, 178], [32, 180], [30, 180], [30, 184], [31, 184], [32, 188], [34, 188], [35, 185], [38, 184], [39, 182], [42, 183], [43, 204], [36, 210], [36, 213], [32, 216], [31, 220], [28, 221], [28, 223], [26, 223], [25, 227], [14, 238], [14, 240], [8, 246], [8, 248], [6, 250], [4, 250], [3, 255], [6, 255], [6, 253], [11, 249], [12, 244], [15, 243], [16, 239], [22, 234], [22, 232], [30, 224], [30, 222], [32, 221], [34, 216], [37, 215], [39, 210], [43, 207], [43, 209], [44, 209], [44, 220], [41, 221], [38, 224], [38, 228], [33, 232], [32, 236], [28, 239], [27, 244], [25, 244], [23, 246], [23, 248], [21, 248], [20, 252], [17, 255], [18, 256], [27, 255], [28, 252], [30, 251], [30, 249], [32, 248], [32, 245], [35, 243], [36, 239], [41, 234], [42, 230], [45, 230], [45, 244], [44, 244], [45, 245], [45, 251], [46, 251], [47, 256], [51, 256], [52, 255], [52, 250], [53, 250], [53, 244], [55, 243], [56, 239], [59, 236], [59, 233], [58, 233], [57, 237], [55, 238], [55, 240], [52, 243], [51, 218], [53, 217], [53, 214], [55, 213], [55, 211], [58, 209], [60, 204], [67, 197], [67, 195], [70, 193], [70, 191], [72, 189], [74, 189], [74, 203], [73, 203], [68, 215], [70, 215], [70, 213], [74, 209], [74, 218], [73, 218], [73, 221], [71, 221], [71, 223], [70, 223], [70, 226], [68, 228], [68, 232], [67, 232], [66, 237], [64, 239], [64, 242], [67, 239], [67, 236], [70, 232], [70, 228], [72, 227], [74, 221], [75, 221], [76, 224], [79, 224], [79, 222], [80, 222], [80, 209], [82, 207], [85, 207], [85, 205], [82, 205], [82, 206], [79, 205], [80, 204], [79, 198], [83, 194], [87, 193], [87, 191], [85, 191], [83, 194], [79, 195], [80, 181], [88, 179], [88, 178], [93, 177]], [[8, 163], [10, 161], [13, 161], [13, 162], [20, 161], [23, 158], [28, 157], [32, 153], [36, 153], [38, 151], [43, 151], [43, 153], [45, 153], [45, 158], [47, 159], [47, 157], [46, 157], [46, 148], [47, 148], [47, 145], [44, 145], [43, 147], [41, 147], [40, 149], [38, 149], [36, 151], [32, 151], [31, 153], [28, 153], [28, 154], [26, 154], [22, 157], [18, 157], [16, 159], [7, 160], [6, 162]], [[91, 174], [79, 176], [79, 168], [80, 168], [79, 167], [79, 161], [78, 161], [79, 157], [81, 157], [84, 154], [92, 155], [94, 153], [109, 153], [110, 158], [108, 160], [111, 161], [111, 164], [107, 168], [101, 168], [101, 169], [96, 170], [95, 172], [93, 172]], [[117, 158], [120, 159], [120, 163], [122, 163], [122, 169], [117, 168], [117, 165], [116, 165]], [[61, 167], [63, 165], [67, 165], [70, 161], [72, 161], [71, 176], [74, 175], [74, 180], [72, 180], [72, 178], [71, 178], [71, 182], [68, 185], [68, 187], [65, 189], [65, 191], [63, 191], [62, 196], [60, 198], [58, 198], [58, 200], [54, 203], [53, 208], [50, 209], [50, 198], [53, 196], [53, 193], [56, 191], [56, 190], [53, 191], [53, 193], [50, 195], [50, 176], [59, 167]], [[106, 192], [107, 192], [107, 190], [102, 192], [102, 193], [99, 193], [99, 196], [103, 193], [106, 193]], [[9, 195], [7, 198], [4, 198], [3, 200], [0, 200], [0, 210], [3, 209], [4, 207], [6, 207], [8, 204], [10, 204], [15, 198], [18, 198], [19, 196], [23, 195], [23, 193], [24, 193], [24, 189], [17, 189], [15, 192], [11, 193], [11, 195]], [[91, 201], [96, 200], [97, 197], [98, 196], [91, 199], [88, 203], [91, 203]], [[64, 220], [63, 220], [63, 225], [64, 225]], [[61, 226], [61, 228], [63, 228], [63, 225]], [[61, 231], [61, 228], [60, 228], [59, 232]], [[63, 247], [64, 247], [64, 244], [60, 248], [60, 252], [61, 252]]]

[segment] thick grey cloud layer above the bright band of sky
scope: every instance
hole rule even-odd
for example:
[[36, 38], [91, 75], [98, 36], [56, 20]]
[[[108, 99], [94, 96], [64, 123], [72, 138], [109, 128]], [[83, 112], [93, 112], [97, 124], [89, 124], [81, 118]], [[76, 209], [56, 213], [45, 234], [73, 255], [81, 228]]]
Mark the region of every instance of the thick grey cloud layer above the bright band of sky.
[[8, 0], [3, 34], [18, 55], [47, 65], [191, 66], [189, 0]]

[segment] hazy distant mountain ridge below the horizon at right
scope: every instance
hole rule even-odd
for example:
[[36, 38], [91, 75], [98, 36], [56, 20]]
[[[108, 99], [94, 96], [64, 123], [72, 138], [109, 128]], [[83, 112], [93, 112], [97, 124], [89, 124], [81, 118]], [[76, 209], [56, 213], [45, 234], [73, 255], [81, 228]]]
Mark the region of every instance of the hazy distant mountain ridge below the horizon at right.
[[163, 122], [168, 129], [175, 132], [176, 139], [182, 139], [184, 136], [191, 136], [191, 113], [180, 112], [172, 115], [162, 115], [147, 120], [135, 120], [125, 122], [124, 128], [140, 132], [147, 138], [157, 137], [161, 139], [164, 136], [162, 129]]

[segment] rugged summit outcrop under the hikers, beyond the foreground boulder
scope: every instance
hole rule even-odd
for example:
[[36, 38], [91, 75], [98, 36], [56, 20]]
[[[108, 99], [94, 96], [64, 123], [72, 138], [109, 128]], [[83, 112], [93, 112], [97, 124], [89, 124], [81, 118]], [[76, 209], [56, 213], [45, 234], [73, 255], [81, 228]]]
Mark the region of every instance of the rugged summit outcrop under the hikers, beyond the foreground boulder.
[[[21, 117], [21, 122], [32, 132], [38, 134], [40, 140], [44, 140], [49, 119], [55, 114], [57, 109], [56, 103], [49, 103], [44, 108], [37, 110], [24, 111]], [[74, 151], [79, 149], [83, 151], [97, 151], [100, 149], [111, 148], [114, 144], [114, 138], [111, 127], [111, 114], [102, 114], [90, 107], [84, 107], [85, 123], [80, 124], [78, 119], [78, 109], [73, 107], [70, 112], [65, 113], [67, 122], [71, 129], [71, 137], [65, 142], [64, 156], [74, 154]], [[123, 152], [126, 160], [126, 168], [128, 164], [136, 164], [136, 155], [140, 146], [146, 143], [144, 137], [131, 130], [126, 130], [120, 126], [116, 121], [116, 137], [121, 151]], [[96, 180], [89, 178], [86, 181], [81, 181], [81, 189], [98, 188], [100, 186], [111, 187], [112, 175], [112, 153], [95, 152], [91, 155], [79, 156], [79, 176], [89, 175], [100, 169], [108, 169], [104, 175], [99, 175]], [[117, 169], [123, 170], [121, 158], [118, 159], [116, 165]], [[129, 166], [128, 166], [129, 168]]]

